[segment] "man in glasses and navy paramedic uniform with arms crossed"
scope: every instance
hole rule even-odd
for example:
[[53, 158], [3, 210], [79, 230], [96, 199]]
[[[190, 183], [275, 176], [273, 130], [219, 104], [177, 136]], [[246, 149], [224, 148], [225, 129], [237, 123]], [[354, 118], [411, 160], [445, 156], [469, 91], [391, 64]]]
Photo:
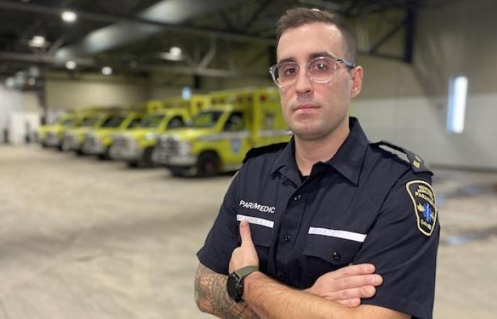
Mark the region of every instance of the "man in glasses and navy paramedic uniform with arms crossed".
[[249, 152], [231, 182], [197, 254], [201, 310], [432, 318], [439, 225], [431, 172], [411, 152], [369, 143], [349, 118], [363, 77], [355, 55], [335, 14], [295, 9], [280, 18], [271, 74], [293, 139]]

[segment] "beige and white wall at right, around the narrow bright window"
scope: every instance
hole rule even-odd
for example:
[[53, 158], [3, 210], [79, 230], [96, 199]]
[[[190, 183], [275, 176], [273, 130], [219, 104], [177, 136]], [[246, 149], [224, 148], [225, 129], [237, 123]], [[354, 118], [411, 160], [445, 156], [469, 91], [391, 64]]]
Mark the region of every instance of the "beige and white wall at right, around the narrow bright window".
[[[360, 57], [364, 90], [353, 102], [372, 141], [390, 140], [427, 162], [497, 169], [497, 1], [457, 1], [422, 11], [413, 65]], [[446, 132], [447, 88], [469, 79], [464, 132]]]

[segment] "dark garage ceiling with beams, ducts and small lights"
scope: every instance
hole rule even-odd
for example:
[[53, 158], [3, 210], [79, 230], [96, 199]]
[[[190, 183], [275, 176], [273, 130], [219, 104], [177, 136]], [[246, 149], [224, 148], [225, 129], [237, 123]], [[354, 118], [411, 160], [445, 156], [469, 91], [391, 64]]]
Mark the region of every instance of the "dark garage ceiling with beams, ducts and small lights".
[[[77, 72], [100, 72], [109, 66], [116, 74], [133, 77], [148, 77], [151, 72], [256, 77], [266, 74], [266, 69], [251, 69], [251, 61], [267, 59], [273, 50], [278, 17], [295, 6], [340, 11], [354, 23], [361, 53], [410, 62], [416, 13], [450, 2], [0, 0], [0, 79], [17, 72], [30, 77], [33, 66], [42, 77], [47, 70], [75, 72], [67, 70], [69, 60], [76, 62]], [[62, 21], [60, 14], [65, 10], [77, 13], [77, 21]], [[397, 48], [382, 51], [382, 46], [399, 34], [403, 40]], [[43, 36], [45, 44], [30, 45], [35, 35]], [[171, 47], [180, 48], [180, 57], [170, 57]], [[236, 52], [250, 58], [241, 63]]]

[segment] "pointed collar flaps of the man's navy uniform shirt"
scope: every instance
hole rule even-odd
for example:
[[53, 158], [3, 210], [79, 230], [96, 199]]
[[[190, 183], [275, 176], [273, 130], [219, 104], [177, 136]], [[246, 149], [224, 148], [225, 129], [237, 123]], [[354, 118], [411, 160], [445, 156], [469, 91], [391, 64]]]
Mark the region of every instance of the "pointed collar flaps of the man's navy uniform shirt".
[[[332, 159], [325, 162], [325, 164], [333, 167], [346, 179], [349, 179], [354, 185], [357, 185], [359, 183], [359, 176], [361, 174], [361, 168], [369, 141], [366, 138], [366, 134], [364, 134], [361, 125], [359, 125], [357, 118], [349, 118], [349, 129], [349, 135], [339, 147], [337, 154], [335, 154]], [[274, 177], [275, 173], [280, 171], [280, 169], [283, 169], [283, 167], [285, 175], [290, 179], [300, 179], [297, 164], [295, 163], [295, 140], [293, 138], [273, 162], [271, 176]]]

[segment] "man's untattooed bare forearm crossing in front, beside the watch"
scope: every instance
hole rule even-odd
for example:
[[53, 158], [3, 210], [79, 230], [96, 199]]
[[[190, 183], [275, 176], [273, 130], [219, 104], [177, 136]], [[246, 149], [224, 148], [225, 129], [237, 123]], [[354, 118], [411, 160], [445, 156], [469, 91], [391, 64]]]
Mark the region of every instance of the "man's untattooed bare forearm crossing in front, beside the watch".
[[244, 300], [257, 315], [266, 319], [409, 318], [403, 313], [377, 306], [347, 308], [311, 293], [283, 286], [261, 272], [246, 277]]

